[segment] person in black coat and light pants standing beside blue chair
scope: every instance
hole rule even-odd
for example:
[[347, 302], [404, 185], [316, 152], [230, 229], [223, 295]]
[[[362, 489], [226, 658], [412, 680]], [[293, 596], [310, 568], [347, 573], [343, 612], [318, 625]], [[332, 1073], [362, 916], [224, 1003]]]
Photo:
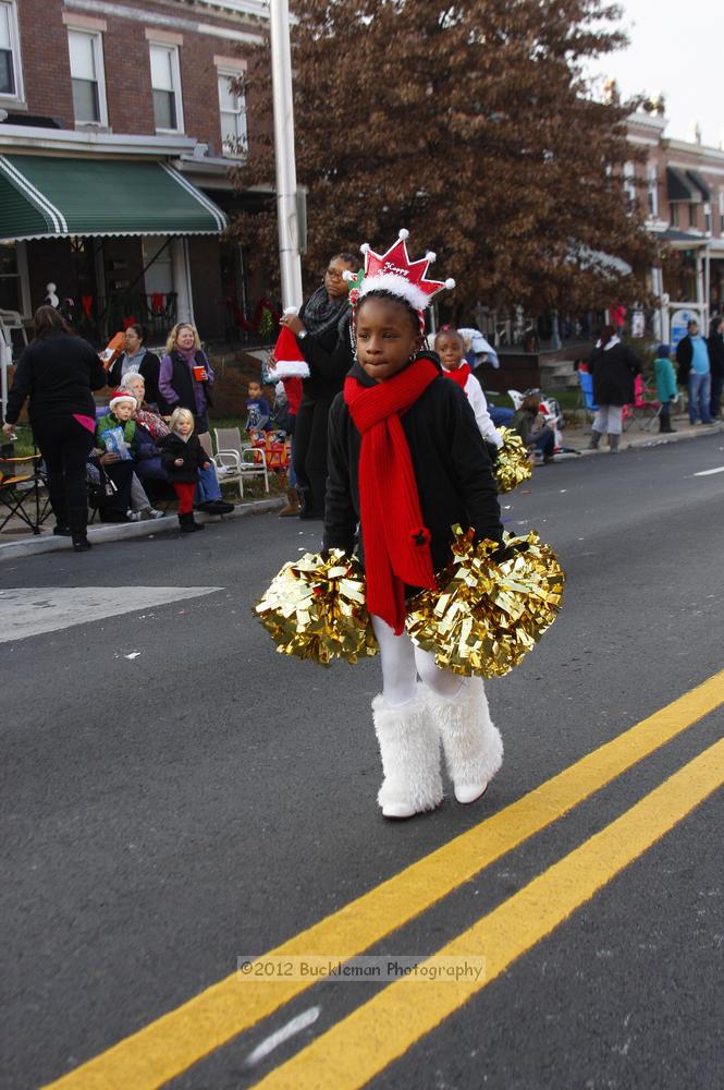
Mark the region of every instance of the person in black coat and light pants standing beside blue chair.
[[618, 451], [623, 429], [624, 405], [634, 401], [634, 380], [641, 374], [641, 363], [628, 344], [624, 344], [613, 326], [604, 326], [588, 364], [593, 376], [593, 400], [598, 411], [593, 417], [589, 450], [598, 450], [601, 436], [608, 433], [611, 453]]

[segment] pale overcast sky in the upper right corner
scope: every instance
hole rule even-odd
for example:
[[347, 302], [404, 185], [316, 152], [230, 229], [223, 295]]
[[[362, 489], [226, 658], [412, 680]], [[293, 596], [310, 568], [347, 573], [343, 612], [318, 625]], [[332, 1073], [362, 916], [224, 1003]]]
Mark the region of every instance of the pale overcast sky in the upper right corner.
[[662, 90], [666, 136], [687, 140], [698, 121], [702, 143], [724, 141], [724, 2], [619, 0], [630, 46], [594, 71], [612, 75], [624, 96]]

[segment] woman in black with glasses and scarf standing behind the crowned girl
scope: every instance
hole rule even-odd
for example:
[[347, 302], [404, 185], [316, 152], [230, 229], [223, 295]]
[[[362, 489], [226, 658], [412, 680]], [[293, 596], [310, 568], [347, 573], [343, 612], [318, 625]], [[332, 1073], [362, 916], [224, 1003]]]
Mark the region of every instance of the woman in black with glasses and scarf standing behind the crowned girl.
[[294, 472], [303, 519], [324, 516], [329, 411], [353, 363], [349, 286], [343, 274], [358, 268], [354, 254], [336, 254], [327, 267], [322, 286], [299, 314], [285, 314], [281, 319], [295, 334], [309, 364], [294, 429]]

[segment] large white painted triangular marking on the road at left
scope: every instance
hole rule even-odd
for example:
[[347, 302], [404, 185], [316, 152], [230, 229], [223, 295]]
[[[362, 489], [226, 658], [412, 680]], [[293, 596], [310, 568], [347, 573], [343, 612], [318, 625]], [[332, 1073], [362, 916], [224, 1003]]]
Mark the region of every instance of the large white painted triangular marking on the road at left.
[[198, 598], [222, 586], [23, 586], [0, 591], [0, 643], [57, 632], [169, 602]]

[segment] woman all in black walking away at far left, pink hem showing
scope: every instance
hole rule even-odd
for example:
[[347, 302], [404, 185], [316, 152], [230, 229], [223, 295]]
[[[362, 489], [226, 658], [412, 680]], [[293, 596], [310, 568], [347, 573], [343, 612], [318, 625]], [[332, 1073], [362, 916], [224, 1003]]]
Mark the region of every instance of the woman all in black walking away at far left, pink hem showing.
[[35, 312], [35, 339], [17, 363], [8, 397], [7, 435], [29, 398], [28, 416], [48, 474], [53, 533], [73, 538], [73, 548], [90, 548], [86, 536], [88, 497], [86, 460], [94, 445], [94, 390], [106, 385], [106, 372], [95, 349], [74, 337], [52, 306]]

